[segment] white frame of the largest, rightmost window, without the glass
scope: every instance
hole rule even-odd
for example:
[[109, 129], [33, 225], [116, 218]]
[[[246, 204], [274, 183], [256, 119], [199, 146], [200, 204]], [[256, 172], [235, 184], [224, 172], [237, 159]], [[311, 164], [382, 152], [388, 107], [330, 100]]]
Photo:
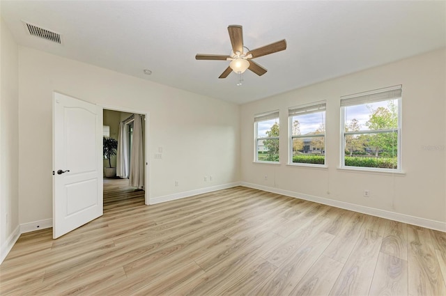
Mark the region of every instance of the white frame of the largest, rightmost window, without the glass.
[[[349, 104], [348, 106], [343, 106], [342, 103], [340, 104], [340, 151], [339, 151], [339, 169], [347, 169], [347, 170], [357, 170], [357, 171], [371, 171], [371, 172], [382, 172], [382, 173], [403, 173], [403, 169], [401, 167], [401, 130], [402, 130], [402, 98], [403, 98], [403, 91], [402, 86], [390, 86], [387, 88], [379, 88], [374, 91], [367, 91], [364, 93], [357, 93], [355, 95], [346, 95], [344, 97], [341, 97], [342, 100], [349, 100], [349, 99], [355, 99], [360, 97], [365, 97], [368, 95], [377, 95], [380, 93], [386, 93], [390, 91], [400, 91], [400, 95], [396, 96], [394, 98], [387, 98], [387, 100], [370, 100], [369, 102], [360, 102], [357, 104]], [[398, 114], [397, 114], [397, 128], [392, 129], [381, 129], [381, 130], [361, 130], [357, 132], [346, 132], [346, 107], [351, 106], [360, 106], [367, 103], [372, 102], [386, 102], [389, 100], [397, 100], [398, 102]], [[397, 133], [397, 168], [396, 169], [383, 169], [383, 168], [374, 168], [369, 166], [346, 166], [345, 165], [345, 149], [346, 149], [346, 136], [348, 135], [355, 135], [355, 134], [389, 134], [389, 133]]]

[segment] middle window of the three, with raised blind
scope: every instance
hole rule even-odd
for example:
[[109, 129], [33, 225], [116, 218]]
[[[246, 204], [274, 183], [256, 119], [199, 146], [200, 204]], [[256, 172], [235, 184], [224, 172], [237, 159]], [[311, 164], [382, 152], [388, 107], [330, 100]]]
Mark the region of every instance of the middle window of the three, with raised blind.
[[290, 164], [325, 164], [325, 102], [289, 109]]

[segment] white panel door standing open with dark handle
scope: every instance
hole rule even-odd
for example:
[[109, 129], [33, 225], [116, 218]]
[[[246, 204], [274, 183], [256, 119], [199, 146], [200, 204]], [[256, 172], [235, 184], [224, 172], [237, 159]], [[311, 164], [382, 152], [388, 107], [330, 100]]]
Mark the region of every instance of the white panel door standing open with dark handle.
[[53, 237], [102, 216], [102, 108], [54, 93]]

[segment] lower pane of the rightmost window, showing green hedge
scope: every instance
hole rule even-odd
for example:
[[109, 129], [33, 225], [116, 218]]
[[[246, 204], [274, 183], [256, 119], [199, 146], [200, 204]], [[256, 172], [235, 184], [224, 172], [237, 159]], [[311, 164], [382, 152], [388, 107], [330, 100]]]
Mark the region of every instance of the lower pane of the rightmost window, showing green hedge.
[[345, 137], [345, 166], [397, 169], [397, 132]]

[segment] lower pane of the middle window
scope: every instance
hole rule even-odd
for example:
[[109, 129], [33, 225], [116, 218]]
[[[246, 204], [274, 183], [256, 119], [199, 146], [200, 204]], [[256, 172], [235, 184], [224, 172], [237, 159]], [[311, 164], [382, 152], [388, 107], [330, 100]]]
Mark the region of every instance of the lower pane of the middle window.
[[293, 139], [293, 163], [325, 164], [325, 137]]

